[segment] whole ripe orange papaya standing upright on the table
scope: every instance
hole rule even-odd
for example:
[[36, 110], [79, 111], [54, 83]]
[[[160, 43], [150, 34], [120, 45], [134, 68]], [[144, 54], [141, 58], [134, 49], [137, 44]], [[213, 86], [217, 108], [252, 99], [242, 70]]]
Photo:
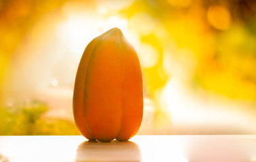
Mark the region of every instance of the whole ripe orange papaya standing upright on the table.
[[88, 140], [129, 140], [143, 117], [139, 58], [119, 28], [94, 38], [79, 63], [73, 116]]

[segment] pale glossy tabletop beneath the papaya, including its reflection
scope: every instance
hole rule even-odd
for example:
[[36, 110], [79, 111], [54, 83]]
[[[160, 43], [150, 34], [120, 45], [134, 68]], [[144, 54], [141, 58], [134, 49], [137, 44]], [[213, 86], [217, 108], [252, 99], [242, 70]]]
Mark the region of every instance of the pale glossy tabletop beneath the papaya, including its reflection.
[[88, 142], [82, 136], [0, 136], [0, 161], [256, 161], [256, 135], [134, 136]]

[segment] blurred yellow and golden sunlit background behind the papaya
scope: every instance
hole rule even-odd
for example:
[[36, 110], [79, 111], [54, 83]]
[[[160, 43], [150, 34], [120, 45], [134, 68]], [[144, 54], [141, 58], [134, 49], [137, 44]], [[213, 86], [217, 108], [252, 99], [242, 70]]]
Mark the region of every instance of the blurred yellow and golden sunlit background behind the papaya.
[[79, 134], [77, 66], [113, 27], [141, 62], [138, 134], [256, 133], [256, 1], [1, 0], [0, 135]]

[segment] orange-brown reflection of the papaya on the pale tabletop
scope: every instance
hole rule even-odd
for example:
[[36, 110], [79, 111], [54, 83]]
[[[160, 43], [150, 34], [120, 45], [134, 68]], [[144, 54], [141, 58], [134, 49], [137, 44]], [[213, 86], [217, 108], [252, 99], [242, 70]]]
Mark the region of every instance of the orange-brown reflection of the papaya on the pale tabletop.
[[85, 161], [141, 161], [139, 145], [131, 141], [81, 142], [77, 146], [75, 162]]

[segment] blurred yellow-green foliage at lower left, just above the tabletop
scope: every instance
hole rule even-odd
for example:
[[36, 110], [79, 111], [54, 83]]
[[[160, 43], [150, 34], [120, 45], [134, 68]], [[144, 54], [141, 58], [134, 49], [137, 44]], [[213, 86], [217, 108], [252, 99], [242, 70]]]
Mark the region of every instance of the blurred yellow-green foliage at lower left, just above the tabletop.
[[75, 135], [79, 134], [71, 121], [45, 117], [50, 107], [40, 101], [1, 107], [0, 135]]

